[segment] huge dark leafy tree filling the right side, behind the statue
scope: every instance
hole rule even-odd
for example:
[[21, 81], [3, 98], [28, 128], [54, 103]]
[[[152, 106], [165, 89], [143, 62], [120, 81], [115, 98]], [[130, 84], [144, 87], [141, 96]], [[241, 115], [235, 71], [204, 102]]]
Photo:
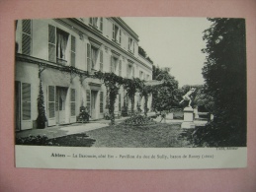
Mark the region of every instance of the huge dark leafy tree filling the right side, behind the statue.
[[246, 146], [246, 53], [244, 19], [209, 19], [203, 76], [213, 97], [213, 121], [195, 133], [197, 145]]

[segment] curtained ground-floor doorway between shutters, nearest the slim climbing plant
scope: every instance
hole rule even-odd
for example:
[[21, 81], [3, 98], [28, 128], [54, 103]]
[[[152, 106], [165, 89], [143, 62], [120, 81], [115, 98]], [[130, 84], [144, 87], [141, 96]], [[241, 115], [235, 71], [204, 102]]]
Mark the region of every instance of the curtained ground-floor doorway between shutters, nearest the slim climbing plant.
[[56, 87], [55, 115], [56, 124], [66, 123], [67, 88]]

